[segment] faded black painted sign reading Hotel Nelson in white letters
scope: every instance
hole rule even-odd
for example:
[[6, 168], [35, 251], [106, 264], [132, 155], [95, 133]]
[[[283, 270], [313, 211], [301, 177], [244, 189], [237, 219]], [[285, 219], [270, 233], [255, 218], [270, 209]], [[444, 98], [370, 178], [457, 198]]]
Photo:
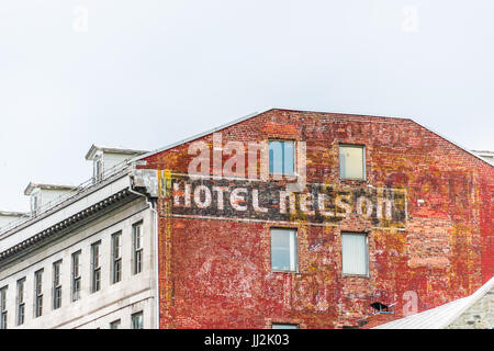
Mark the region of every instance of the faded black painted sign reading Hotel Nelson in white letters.
[[276, 182], [188, 177], [167, 181], [161, 195], [169, 196], [171, 214], [179, 216], [332, 224], [357, 215], [383, 227], [403, 227], [407, 217], [402, 189], [308, 184], [295, 193]]

